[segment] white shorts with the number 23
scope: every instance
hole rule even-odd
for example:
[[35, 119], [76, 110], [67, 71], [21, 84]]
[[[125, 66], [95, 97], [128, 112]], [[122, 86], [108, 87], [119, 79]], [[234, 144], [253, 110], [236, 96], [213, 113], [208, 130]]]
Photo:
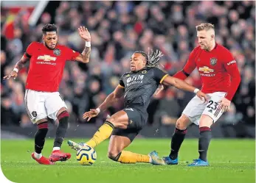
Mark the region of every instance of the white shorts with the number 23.
[[218, 101], [225, 96], [226, 93], [224, 92], [208, 93], [208, 103], [204, 103], [198, 96], [194, 96], [187, 104], [187, 107], [182, 114], [186, 115], [190, 119], [190, 122], [195, 123], [196, 125], [199, 125], [199, 120], [202, 114], [210, 116], [213, 123], [215, 123], [223, 114]]

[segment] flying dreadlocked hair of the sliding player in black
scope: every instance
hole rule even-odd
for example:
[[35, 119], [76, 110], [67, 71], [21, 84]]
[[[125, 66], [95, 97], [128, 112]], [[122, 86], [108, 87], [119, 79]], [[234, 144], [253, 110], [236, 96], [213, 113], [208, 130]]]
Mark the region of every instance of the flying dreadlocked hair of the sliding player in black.
[[135, 51], [134, 53], [142, 54], [142, 56], [147, 60], [146, 65], [148, 67], [159, 67], [159, 60], [162, 56], [164, 56], [162, 51], [156, 50], [154, 52], [153, 49], [148, 49], [148, 54], [146, 54], [144, 51]]

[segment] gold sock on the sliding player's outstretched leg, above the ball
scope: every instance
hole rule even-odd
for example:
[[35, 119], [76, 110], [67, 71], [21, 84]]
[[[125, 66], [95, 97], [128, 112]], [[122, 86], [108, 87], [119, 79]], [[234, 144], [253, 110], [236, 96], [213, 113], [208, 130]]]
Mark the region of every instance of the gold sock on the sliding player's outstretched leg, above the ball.
[[100, 129], [94, 134], [94, 136], [86, 144], [94, 148], [99, 145], [103, 140], [111, 136], [114, 130], [114, 125], [108, 121], [105, 121], [103, 126], [100, 126]]

